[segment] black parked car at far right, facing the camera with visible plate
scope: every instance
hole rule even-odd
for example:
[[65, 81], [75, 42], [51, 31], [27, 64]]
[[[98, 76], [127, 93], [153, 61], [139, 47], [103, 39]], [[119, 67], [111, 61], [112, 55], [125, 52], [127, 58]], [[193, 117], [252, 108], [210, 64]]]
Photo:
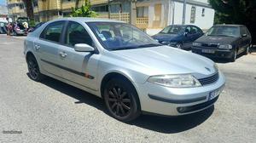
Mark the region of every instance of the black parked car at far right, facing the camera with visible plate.
[[252, 37], [246, 26], [216, 25], [193, 43], [192, 52], [235, 61], [237, 54], [248, 54], [251, 43]]

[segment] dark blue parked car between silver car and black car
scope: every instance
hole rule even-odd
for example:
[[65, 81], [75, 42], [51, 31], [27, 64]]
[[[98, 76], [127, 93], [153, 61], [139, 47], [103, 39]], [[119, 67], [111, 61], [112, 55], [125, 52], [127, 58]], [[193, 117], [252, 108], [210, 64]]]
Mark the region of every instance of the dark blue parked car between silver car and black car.
[[172, 25], [166, 26], [153, 38], [159, 43], [176, 47], [178, 49], [190, 49], [192, 43], [203, 35], [203, 31], [197, 26]]

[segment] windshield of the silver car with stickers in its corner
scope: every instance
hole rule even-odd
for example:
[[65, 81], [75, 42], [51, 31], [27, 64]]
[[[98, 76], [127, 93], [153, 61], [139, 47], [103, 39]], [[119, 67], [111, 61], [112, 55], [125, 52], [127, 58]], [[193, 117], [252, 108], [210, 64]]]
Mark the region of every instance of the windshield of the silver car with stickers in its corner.
[[108, 50], [140, 49], [160, 46], [135, 26], [115, 22], [87, 22], [102, 46]]

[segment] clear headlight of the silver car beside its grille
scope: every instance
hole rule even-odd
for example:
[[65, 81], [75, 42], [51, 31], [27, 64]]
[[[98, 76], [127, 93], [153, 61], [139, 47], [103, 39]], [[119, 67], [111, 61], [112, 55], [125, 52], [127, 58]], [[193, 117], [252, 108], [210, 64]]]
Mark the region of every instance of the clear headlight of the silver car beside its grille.
[[191, 74], [152, 76], [148, 78], [148, 82], [170, 88], [193, 88], [201, 86], [201, 83]]

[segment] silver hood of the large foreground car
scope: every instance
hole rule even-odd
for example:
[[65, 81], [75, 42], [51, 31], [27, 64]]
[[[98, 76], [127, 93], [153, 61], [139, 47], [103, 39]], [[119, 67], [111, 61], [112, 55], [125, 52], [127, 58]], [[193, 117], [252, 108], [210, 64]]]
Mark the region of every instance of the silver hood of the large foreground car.
[[[112, 51], [125, 68], [151, 75], [193, 73], [195, 76], [216, 72], [214, 62], [201, 55], [168, 46]], [[210, 71], [207, 70], [210, 69]]]

